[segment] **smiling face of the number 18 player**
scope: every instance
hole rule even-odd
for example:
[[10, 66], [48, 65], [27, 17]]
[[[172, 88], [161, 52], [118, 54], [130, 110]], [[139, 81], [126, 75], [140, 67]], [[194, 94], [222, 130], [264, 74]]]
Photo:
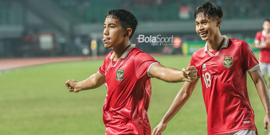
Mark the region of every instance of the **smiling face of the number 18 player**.
[[198, 14], [195, 20], [196, 32], [203, 41], [213, 41], [214, 37], [219, 34], [221, 19], [217, 17], [208, 18], [203, 14]]

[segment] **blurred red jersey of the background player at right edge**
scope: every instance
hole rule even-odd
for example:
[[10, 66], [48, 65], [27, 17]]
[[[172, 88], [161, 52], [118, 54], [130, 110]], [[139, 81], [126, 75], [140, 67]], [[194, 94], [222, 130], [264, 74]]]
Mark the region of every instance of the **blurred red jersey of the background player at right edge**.
[[254, 40], [255, 44], [266, 46], [260, 50], [259, 61], [263, 63], [270, 63], [270, 44], [265, 44], [265, 41], [267, 40], [270, 40], [270, 33], [266, 35], [264, 30], [257, 32]]

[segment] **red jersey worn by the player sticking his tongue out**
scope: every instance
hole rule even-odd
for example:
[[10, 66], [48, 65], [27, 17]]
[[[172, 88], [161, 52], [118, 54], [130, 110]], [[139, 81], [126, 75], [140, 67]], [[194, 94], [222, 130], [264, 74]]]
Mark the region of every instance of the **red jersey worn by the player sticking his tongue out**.
[[118, 61], [110, 52], [98, 73], [105, 77], [107, 95], [103, 106], [106, 135], [150, 135], [147, 116], [152, 87], [149, 70], [153, 57], [131, 44]]

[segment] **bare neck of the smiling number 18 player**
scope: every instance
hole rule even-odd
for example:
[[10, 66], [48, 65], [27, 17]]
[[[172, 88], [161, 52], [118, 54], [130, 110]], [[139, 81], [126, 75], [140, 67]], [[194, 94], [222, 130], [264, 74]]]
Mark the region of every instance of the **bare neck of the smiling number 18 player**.
[[218, 34], [211, 41], [207, 41], [208, 51], [219, 50], [223, 44], [225, 38], [221, 34]]

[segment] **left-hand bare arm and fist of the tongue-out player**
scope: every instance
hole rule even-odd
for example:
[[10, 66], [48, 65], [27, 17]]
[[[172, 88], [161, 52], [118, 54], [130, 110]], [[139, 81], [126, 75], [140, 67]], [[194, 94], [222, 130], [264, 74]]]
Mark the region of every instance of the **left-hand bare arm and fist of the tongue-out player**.
[[97, 72], [81, 82], [76, 82], [76, 80], [67, 80], [66, 86], [68, 91], [70, 92], [79, 92], [81, 90], [98, 88], [99, 86], [104, 84], [104, 82], [105, 77], [99, 75], [99, 73]]

